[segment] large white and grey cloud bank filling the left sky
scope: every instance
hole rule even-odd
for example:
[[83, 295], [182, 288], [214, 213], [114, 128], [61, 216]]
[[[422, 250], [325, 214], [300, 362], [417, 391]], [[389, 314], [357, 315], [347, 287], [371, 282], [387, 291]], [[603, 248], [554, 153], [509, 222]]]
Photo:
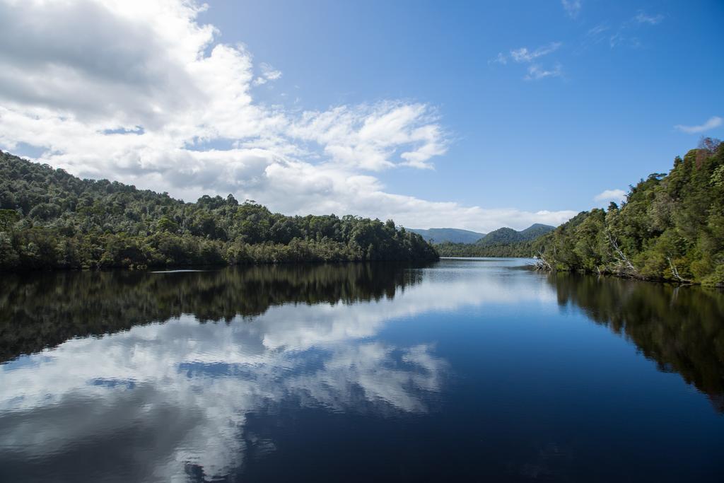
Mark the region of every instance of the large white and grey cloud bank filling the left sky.
[[[0, 0], [0, 147], [195, 200], [234, 193], [289, 214], [413, 227], [558, 224], [572, 211], [481, 209], [388, 193], [376, 173], [433, 169], [449, 135], [415, 101], [299, 111], [255, 101], [282, 77], [217, 41], [206, 7], [168, 0]], [[83, 32], [83, 35], [78, 35]], [[518, 51], [521, 59], [557, 49]], [[223, 148], [222, 148], [223, 146]]]

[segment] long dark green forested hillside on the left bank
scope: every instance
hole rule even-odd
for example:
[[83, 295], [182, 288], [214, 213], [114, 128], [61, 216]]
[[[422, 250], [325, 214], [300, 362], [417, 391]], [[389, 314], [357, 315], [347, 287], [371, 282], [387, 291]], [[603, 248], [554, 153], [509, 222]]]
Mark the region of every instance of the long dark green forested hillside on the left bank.
[[231, 195], [185, 203], [2, 151], [0, 172], [0, 269], [438, 258], [392, 220], [288, 217]]

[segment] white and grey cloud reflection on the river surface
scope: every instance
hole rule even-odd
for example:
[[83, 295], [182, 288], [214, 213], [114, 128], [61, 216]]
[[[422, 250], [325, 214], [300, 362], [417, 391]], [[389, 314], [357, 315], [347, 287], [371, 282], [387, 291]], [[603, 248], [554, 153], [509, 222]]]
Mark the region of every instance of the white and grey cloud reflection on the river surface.
[[[90, 473], [107, 476], [114, 466], [119, 479], [128, 468], [146, 469], [132, 475], [142, 479], [184, 479], [189, 468], [206, 476], [239, 469], [250, 444], [256, 454], [274, 450], [273, 441], [245, 434], [245, 423], [282, 403], [425, 413], [450, 371], [434, 341], [399, 346], [376, 337], [387, 322], [415, 314], [521, 293], [555, 297], [516, 290], [505, 277], [487, 280], [447, 280], [438, 270], [377, 300], [285, 303], [227, 324], [183, 314], [67, 340], [0, 366], [0, 448], [59, 465], [96, 453], [104, 461], [85, 463]], [[531, 282], [528, 289], [542, 286]]]

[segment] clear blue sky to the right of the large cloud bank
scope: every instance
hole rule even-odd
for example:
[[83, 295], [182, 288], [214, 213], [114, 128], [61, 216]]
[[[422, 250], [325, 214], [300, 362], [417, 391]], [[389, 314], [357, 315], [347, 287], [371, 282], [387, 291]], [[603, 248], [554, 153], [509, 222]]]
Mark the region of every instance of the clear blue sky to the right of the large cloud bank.
[[[555, 0], [211, 1], [202, 20], [285, 72], [269, 102], [436, 106], [450, 149], [434, 171], [385, 172], [395, 192], [584, 210], [603, 190], [668, 171], [702, 134], [724, 136], [673, 128], [724, 115], [724, 3], [580, 4], [572, 16]], [[529, 64], [490, 62], [551, 43], [561, 45], [536, 64], [560, 65], [559, 77], [524, 80]]]

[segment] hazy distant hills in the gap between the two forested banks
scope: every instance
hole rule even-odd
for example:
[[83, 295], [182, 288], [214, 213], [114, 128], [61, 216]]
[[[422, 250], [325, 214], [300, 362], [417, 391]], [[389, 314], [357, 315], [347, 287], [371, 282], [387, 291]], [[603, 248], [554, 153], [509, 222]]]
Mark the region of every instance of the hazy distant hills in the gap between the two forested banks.
[[419, 228], [408, 228], [408, 231], [421, 235], [426, 241], [434, 243], [474, 243], [481, 246], [500, 245], [529, 241], [555, 230], [550, 224], [535, 223], [525, 230], [516, 231], [513, 228], [498, 228], [485, 233], [460, 230], [459, 228], [430, 228], [421, 230]]

